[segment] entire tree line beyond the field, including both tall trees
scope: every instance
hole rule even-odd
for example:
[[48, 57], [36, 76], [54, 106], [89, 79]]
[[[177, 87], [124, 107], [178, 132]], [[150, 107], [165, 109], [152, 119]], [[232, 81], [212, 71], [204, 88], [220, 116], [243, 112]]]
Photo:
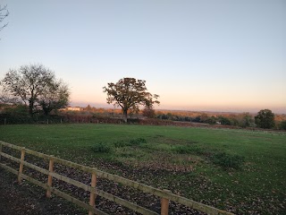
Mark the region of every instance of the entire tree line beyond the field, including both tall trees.
[[[196, 116], [163, 113], [155, 111], [159, 105], [159, 96], [147, 91], [146, 81], [134, 78], [122, 78], [118, 82], [109, 82], [104, 92], [107, 103], [120, 109], [84, 107], [81, 112], [61, 113], [59, 109], [69, 104], [69, 86], [55, 78], [55, 73], [42, 64], [22, 65], [19, 69], [10, 69], [0, 82], [0, 123], [4, 119], [10, 124], [50, 122], [115, 122], [122, 119], [125, 123], [139, 122], [142, 117], [156, 120], [180, 121], [209, 125], [231, 125], [240, 127], [259, 127], [264, 129], [280, 128], [286, 130], [286, 120], [275, 123], [270, 109], [260, 110], [256, 116], [249, 113], [231, 115], [210, 115], [201, 113]], [[143, 107], [143, 108], [142, 108]], [[187, 113], [187, 112], [186, 112]], [[112, 119], [116, 119], [115, 121]], [[117, 121], [116, 121], [117, 122]], [[118, 121], [119, 122], [119, 121]], [[155, 121], [150, 121], [154, 123]]]

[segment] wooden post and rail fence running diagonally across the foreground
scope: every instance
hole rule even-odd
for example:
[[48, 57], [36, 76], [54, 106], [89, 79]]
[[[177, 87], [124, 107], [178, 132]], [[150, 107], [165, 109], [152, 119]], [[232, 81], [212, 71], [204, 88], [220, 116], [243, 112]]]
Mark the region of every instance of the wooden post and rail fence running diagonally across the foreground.
[[[13, 149], [13, 150], [19, 150], [21, 151], [21, 159], [17, 159], [15, 157], [13, 157], [12, 155], [9, 155], [7, 153], [3, 152], [4, 147]], [[25, 161], [25, 154], [31, 154], [33, 156], [36, 156], [38, 158], [41, 159], [47, 159], [49, 160], [49, 167], [48, 170], [45, 168], [40, 168], [34, 164], [31, 164], [27, 161]], [[19, 165], [19, 169], [16, 170], [14, 168], [9, 167], [8, 165], [4, 164], [1, 160], [1, 157], [5, 158], [5, 159], [10, 159], [13, 160], [14, 162], [18, 162]], [[63, 176], [61, 174], [55, 173], [54, 172], [54, 163], [59, 163], [65, 167], [69, 167], [69, 168], [75, 168], [78, 170], [81, 170], [83, 172], [89, 173], [91, 176], [91, 185], [86, 185], [84, 183], [81, 183], [80, 181], [71, 179], [70, 177], [67, 176]], [[34, 169], [42, 174], [45, 174], [47, 176], [47, 183], [44, 184], [40, 181], [38, 181], [35, 178], [32, 178], [31, 176], [25, 175], [23, 174], [23, 168], [24, 166]], [[158, 214], [156, 213], [156, 211], [150, 211], [144, 207], [139, 206], [136, 203], [133, 202], [129, 202], [127, 200], [124, 200], [120, 197], [117, 197], [111, 193], [106, 193], [102, 190], [98, 190], [97, 189], [97, 176], [108, 179], [110, 181], [113, 181], [115, 183], [119, 183], [121, 185], [126, 185], [126, 186], [130, 186], [132, 188], [135, 188], [143, 193], [151, 193], [155, 196], [158, 196], [161, 198], [161, 215], [168, 215], [168, 211], [169, 211], [169, 202], [177, 202], [180, 203], [182, 205], [188, 206], [189, 208], [195, 209], [197, 211], [202, 211], [205, 212], [207, 214], [212, 214], [212, 215], [231, 215], [233, 213], [231, 212], [227, 212], [227, 211], [222, 211], [219, 209], [216, 209], [214, 207], [208, 206], [206, 204], [200, 203], [200, 202], [195, 202], [193, 200], [189, 200], [187, 198], [181, 197], [179, 195], [170, 193], [169, 191], [166, 190], [160, 190], [157, 188], [154, 188], [152, 186], [149, 185], [143, 185], [140, 184], [138, 182], [135, 181], [131, 181], [127, 178], [124, 178], [122, 176], [116, 176], [113, 174], [109, 174], [106, 173], [104, 171], [98, 170], [97, 168], [89, 168], [86, 166], [82, 166], [80, 164], [77, 163], [73, 163], [71, 161], [65, 160], [65, 159], [59, 159], [56, 158], [54, 156], [51, 155], [46, 155], [44, 153], [40, 153], [38, 151], [35, 150], [29, 150], [17, 145], [13, 145], [7, 142], [2, 142], [0, 141], [0, 168], [4, 168], [9, 172], [12, 172], [13, 174], [18, 176], [18, 182], [21, 183], [22, 179], [25, 179], [27, 181], [29, 181], [30, 183], [34, 184], [34, 185], [38, 185], [43, 187], [44, 189], [46, 189], [46, 197], [51, 197], [51, 193], [55, 193], [56, 195], [66, 199], [69, 202], [72, 202], [74, 204], [77, 204], [78, 206], [80, 206], [81, 208], [84, 208], [88, 211], [88, 215], [92, 215], [92, 214], [107, 214], [104, 211], [100, 211], [97, 209], [97, 205], [96, 205], [96, 196], [101, 196], [109, 201], [112, 202], [116, 202], [126, 208], [129, 208], [132, 211], [137, 211], [141, 214]], [[88, 191], [90, 193], [89, 195], [89, 204], [86, 202], [82, 202], [80, 200], [78, 200], [77, 198], [67, 194], [67, 193], [63, 193], [62, 191], [55, 189], [55, 187], [53, 187], [53, 178], [56, 178], [58, 180], [62, 180], [65, 183], [71, 184], [71, 185], [75, 185], [77, 187], [82, 188], [85, 191]]]

